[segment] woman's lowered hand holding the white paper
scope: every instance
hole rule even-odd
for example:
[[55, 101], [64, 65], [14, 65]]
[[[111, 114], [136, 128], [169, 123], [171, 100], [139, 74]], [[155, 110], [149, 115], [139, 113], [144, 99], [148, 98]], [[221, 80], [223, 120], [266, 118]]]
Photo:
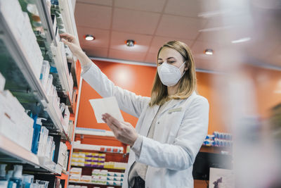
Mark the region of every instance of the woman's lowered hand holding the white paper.
[[138, 133], [131, 123], [119, 121], [108, 113], [103, 114], [103, 121], [110, 127], [110, 130], [120, 142], [133, 146], [138, 138]]

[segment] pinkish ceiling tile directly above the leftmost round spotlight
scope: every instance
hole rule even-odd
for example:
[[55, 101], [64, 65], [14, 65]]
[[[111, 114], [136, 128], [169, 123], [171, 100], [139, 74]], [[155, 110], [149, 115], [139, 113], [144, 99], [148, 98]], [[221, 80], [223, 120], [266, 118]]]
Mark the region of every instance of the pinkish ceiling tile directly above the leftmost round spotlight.
[[110, 29], [112, 8], [92, 4], [79, 4], [75, 7], [77, 26]]

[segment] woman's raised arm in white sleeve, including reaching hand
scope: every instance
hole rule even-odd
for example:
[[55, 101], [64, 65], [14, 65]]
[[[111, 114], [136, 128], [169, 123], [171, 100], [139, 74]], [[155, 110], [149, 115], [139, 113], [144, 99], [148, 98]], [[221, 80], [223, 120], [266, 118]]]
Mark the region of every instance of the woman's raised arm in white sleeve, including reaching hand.
[[69, 34], [62, 34], [63, 42], [70, 47], [70, 50], [77, 56], [83, 73], [81, 74], [84, 80], [88, 82], [93, 89], [103, 97], [115, 96], [119, 105], [119, 108], [126, 113], [129, 113], [138, 118], [141, 115], [141, 111], [150, 101], [149, 97], [137, 96], [133, 92], [129, 92], [126, 89], [115, 86], [115, 84], [107, 78], [105, 74], [101, 72], [97, 65], [86, 56], [81, 50], [77, 39]]

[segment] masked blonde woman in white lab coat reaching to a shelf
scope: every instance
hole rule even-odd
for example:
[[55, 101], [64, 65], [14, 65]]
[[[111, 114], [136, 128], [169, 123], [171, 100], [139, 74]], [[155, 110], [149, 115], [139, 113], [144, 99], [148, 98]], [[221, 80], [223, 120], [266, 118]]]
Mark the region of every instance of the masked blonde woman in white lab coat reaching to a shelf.
[[159, 49], [151, 98], [115, 86], [81, 50], [77, 39], [60, 35], [79, 58], [82, 77], [103, 97], [138, 118], [136, 129], [110, 114], [103, 120], [115, 137], [131, 146], [122, 187], [193, 187], [192, 165], [207, 135], [209, 103], [195, 93], [195, 63], [183, 42]]

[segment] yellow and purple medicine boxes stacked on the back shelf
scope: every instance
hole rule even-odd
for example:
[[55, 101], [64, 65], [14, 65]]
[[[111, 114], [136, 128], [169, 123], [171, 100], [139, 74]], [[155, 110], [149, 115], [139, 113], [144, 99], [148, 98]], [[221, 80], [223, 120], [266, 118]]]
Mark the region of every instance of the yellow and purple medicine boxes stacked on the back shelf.
[[103, 168], [105, 153], [73, 152], [71, 165]]

